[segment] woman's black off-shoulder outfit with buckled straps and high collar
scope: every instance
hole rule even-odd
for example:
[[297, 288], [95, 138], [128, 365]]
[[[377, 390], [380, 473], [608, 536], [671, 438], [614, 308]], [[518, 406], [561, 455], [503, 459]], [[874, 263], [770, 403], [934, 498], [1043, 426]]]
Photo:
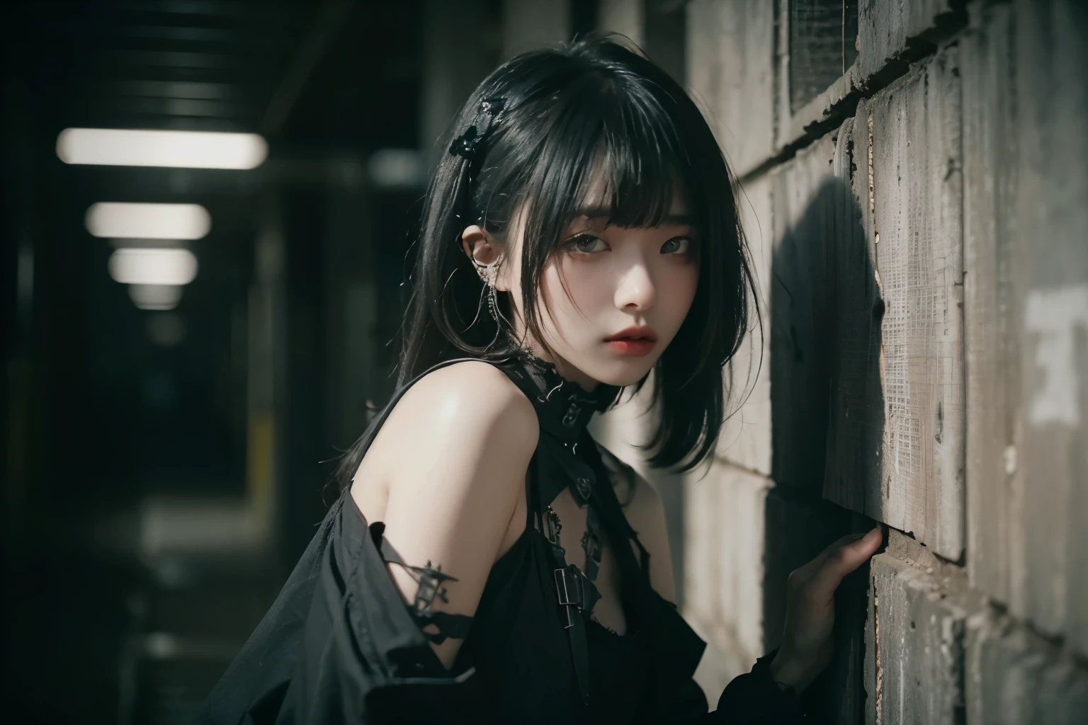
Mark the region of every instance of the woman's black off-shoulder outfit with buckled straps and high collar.
[[[631, 475], [630, 468], [585, 429], [617, 389], [602, 385], [588, 393], [529, 354], [496, 364], [532, 401], [541, 435], [527, 476], [526, 532], [492, 567], [453, 668], [438, 661], [388, 575], [382, 525], [368, 526], [345, 492], [212, 690], [202, 721], [800, 722], [796, 698], [768, 674], [770, 654], [733, 679], [717, 711], [707, 713], [692, 679], [705, 643], [651, 588], [650, 557], [610, 483], [609, 473]], [[383, 410], [368, 446], [410, 385]], [[562, 540], [549, 508], [568, 487], [588, 507], [581, 546]], [[607, 540], [616, 557], [625, 636], [589, 616], [597, 596], [590, 570], [599, 561], [591, 535]]]

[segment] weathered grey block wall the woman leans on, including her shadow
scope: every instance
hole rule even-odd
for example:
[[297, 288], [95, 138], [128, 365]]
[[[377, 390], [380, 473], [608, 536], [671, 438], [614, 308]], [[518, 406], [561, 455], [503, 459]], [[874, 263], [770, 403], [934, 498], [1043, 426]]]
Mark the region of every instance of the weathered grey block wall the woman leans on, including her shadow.
[[789, 572], [877, 521], [888, 548], [844, 583], [814, 708], [1084, 722], [1088, 11], [846, 3], [856, 59], [799, 105], [791, 63], [818, 59], [791, 46], [827, 43], [789, 24], [820, 4], [684, 9], [764, 313], [733, 363], [746, 402], [683, 484], [701, 680], [716, 698], [772, 648]]

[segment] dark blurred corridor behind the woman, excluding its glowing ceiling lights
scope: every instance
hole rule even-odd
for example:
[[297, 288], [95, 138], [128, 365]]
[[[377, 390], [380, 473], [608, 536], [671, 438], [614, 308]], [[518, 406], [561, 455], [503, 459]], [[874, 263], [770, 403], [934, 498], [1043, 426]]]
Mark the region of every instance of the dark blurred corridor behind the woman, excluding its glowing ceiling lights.
[[[572, 3], [572, 30], [595, 13]], [[422, 170], [502, 22], [498, 0], [3, 3], [3, 720], [191, 718], [390, 392]], [[67, 165], [67, 127], [270, 151]], [[390, 149], [399, 178], [374, 168]], [[99, 201], [208, 209], [176, 309], [110, 278]]]

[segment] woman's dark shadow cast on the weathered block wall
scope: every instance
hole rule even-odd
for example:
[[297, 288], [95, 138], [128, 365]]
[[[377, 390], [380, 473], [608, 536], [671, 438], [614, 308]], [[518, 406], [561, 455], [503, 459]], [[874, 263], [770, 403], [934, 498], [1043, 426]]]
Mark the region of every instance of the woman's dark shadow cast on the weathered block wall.
[[[841, 142], [840, 142], [841, 143]], [[800, 160], [799, 160], [800, 161]], [[849, 165], [849, 160], [846, 164]], [[776, 175], [780, 199], [802, 196], [802, 164]], [[883, 301], [863, 212], [846, 179], [821, 182], [772, 260], [770, 386], [772, 477], [767, 499], [764, 625], [778, 646], [789, 573], [868, 518], [849, 502], [881, 475], [885, 405], [880, 382]], [[869, 490], [879, 488], [869, 488]], [[805, 698], [831, 722], [861, 716], [868, 566], [840, 587], [836, 660]]]

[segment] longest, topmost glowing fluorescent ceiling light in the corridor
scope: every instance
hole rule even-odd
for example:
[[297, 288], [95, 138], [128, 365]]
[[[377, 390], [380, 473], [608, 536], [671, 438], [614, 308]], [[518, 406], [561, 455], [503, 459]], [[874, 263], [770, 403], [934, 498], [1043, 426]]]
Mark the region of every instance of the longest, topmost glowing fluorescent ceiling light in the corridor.
[[65, 128], [57, 137], [57, 155], [66, 164], [256, 168], [268, 154], [257, 134]]

